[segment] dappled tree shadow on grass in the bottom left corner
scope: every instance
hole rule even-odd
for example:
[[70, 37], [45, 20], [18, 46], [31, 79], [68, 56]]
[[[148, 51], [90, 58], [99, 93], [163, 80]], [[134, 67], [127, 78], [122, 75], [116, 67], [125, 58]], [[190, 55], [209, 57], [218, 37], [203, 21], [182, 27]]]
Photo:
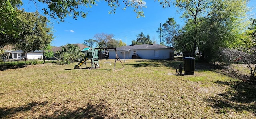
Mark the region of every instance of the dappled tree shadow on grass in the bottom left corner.
[[31, 102], [20, 107], [0, 108], [0, 115], [1, 119], [16, 118], [20, 113], [28, 114], [26, 117], [29, 116], [37, 119], [118, 119], [116, 115], [110, 117], [106, 113], [108, 109], [104, 102], [100, 102], [96, 105], [88, 103], [75, 108], [72, 105], [68, 107], [68, 103], [70, 102], [65, 101], [63, 103], [52, 104], [47, 101], [42, 103]]

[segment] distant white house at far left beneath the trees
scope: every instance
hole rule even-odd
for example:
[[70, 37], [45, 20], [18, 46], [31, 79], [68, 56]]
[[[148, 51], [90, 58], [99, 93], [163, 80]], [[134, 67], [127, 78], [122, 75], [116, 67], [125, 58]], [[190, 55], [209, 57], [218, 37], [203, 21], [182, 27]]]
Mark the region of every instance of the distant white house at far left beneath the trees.
[[[5, 51], [8, 54], [10, 51]], [[22, 50], [11, 51], [9, 58], [5, 59], [42, 59], [43, 58], [43, 51], [42, 50], [35, 50], [32, 52], [23, 52]]]

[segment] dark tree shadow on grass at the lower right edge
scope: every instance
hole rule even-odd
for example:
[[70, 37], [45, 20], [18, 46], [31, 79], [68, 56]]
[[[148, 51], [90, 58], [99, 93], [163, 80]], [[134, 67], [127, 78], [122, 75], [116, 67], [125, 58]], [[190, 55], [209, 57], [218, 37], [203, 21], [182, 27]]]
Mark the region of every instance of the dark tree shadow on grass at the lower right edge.
[[226, 114], [230, 109], [236, 111], [252, 112], [256, 115], [256, 86], [246, 82], [223, 82], [216, 81], [219, 85], [228, 85], [228, 91], [211, 96], [205, 101], [209, 102], [211, 107], [218, 109], [217, 113]]

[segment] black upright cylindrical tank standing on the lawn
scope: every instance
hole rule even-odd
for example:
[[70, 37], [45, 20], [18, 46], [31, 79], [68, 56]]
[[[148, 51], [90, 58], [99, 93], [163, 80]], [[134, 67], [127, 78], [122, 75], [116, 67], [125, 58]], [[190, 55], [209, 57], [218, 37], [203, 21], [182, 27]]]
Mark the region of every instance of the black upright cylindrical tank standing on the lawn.
[[184, 72], [186, 75], [193, 75], [195, 71], [196, 59], [193, 57], [183, 58]]

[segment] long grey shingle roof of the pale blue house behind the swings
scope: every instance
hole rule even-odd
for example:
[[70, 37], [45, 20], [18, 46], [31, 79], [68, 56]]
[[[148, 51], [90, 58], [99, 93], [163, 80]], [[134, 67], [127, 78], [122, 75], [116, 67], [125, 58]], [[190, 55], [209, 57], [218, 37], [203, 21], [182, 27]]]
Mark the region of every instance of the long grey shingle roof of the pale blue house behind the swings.
[[116, 50], [166, 49], [166, 48], [174, 49], [172, 47], [168, 47], [168, 46], [164, 46], [164, 45], [159, 45], [159, 44], [143, 44], [143, 45], [122, 46], [122, 47], [116, 48]]

